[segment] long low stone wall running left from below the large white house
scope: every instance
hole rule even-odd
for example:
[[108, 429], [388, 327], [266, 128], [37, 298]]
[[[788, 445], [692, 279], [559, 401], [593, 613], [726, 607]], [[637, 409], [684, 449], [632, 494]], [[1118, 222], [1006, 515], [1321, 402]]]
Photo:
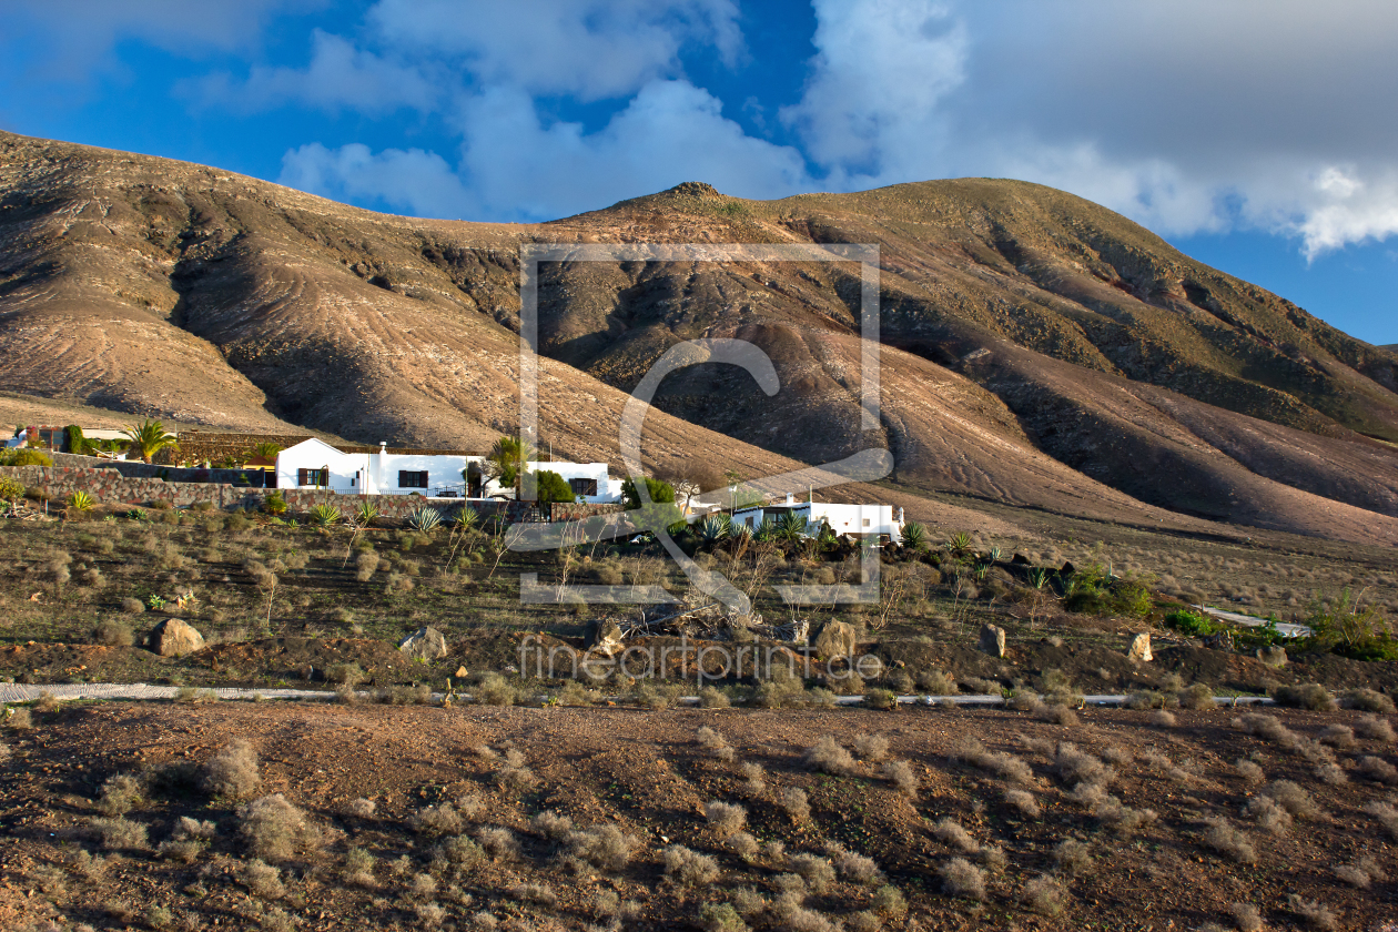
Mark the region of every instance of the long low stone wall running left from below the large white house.
[[[62, 454], [64, 460], [91, 460], [91, 457], [70, 457]], [[186, 474], [200, 472], [197, 469], [175, 469], [159, 465], [145, 465], [144, 463], [124, 464], [140, 467], [138, 471], [151, 471], [152, 475], [123, 475], [113, 469], [113, 464], [102, 467], [0, 467], [0, 475], [22, 482], [25, 488], [36, 488], [45, 492], [52, 500], [63, 502], [74, 492], [82, 490], [92, 496], [98, 504], [150, 506], [155, 502], [169, 502], [175, 507], [189, 507], [196, 502], [210, 502], [217, 509], [247, 509], [250, 511], [261, 509], [268, 495], [263, 489], [231, 485], [226, 482], [178, 482], [159, 478], [159, 472]], [[207, 469], [203, 472], [238, 472], [236, 469]], [[442, 511], [443, 520], [450, 521], [461, 510], [464, 502], [425, 500], [411, 495], [340, 495], [320, 489], [282, 489], [282, 497], [292, 514], [305, 514], [316, 504], [333, 504], [341, 513], [350, 514], [363, 499], [372, 499], [379, 509], [379, 514], [386, 520], [405, 520], [422, 504]], [[540, 520], [538, 509], [531, 502], [470, 502], [482, 518], [503, 517], [516, 523], [524, 520]], [[554, 504], [549, 513], [552, 521], [572, 521], [596, 514], [610, 514], [619, 511], [619, 504]]]

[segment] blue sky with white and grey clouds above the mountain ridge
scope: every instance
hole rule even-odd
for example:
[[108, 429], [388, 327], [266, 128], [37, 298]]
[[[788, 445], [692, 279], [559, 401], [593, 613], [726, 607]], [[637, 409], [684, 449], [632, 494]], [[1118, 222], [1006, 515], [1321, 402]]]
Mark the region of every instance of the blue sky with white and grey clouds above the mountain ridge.
[[0, 129], [373, 210], [1018, 177], [1398, 344], [1391, 0], [0, 0]]

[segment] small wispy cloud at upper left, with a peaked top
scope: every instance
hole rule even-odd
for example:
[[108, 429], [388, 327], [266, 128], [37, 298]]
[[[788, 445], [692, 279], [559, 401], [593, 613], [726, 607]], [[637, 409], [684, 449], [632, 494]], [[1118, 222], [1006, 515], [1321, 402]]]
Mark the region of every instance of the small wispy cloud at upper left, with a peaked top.
[[426, 110], [438, 94], [417, 67], [389, 61], [356, 49], [341, 36], [316, 29], [310, 64], [299, 68], [253, 67], [243, 82], [226, 73], [200, 81], [207, 103], [259, 110], [295, 102], [337, 112], [383, 113], [408, 106]]

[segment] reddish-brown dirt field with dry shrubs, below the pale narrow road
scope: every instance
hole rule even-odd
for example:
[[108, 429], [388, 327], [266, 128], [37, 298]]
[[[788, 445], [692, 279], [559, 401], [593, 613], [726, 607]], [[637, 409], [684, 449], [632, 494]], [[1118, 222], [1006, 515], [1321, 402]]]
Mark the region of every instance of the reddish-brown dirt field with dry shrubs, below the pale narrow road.
[[[1283, 710], [1271, 713], [1290, 729], [1278, 743], [1240, 731], [1234, 715], [1181, 710], [1160, 724], [1151, 713], [1085, 710], [1061, 725], [942, 708], [281, 703], [35, 713], [32, 729], [4, 735], [0, 926], [572, 929], [619, 919], [667, 929], [703, 928], [703, 907], [723, 903], [752, 928], [795, 929], [1233, 928], [1234, 903], [1255, 905], [1267, 928], [1377, 929], [1398, 919], [1387, 879], [1398, 876], [1394, 837], [1366, 812], [1391, 801], [1392, 788], [1374, 778], [1384, 773], [1376, 764], [1391, 764], [1391, 739], [1335, 738], [1334, 727], [1357, 724], [1355, 713]], [[720, 738], [696, 742], [700, 727]], [[864, 745], [863, 759], [822, 773], [807, 755], [823, 735], [844, 748], [882, 735], [888, 749]], [[967, 735], [987, 753], [967, 749]], [[261, 762], [260, 785], [245, 799], [282, 794], [317, 829], [264, 852], [271, 868], [261, 872], [249, 864], [267, 838], [249, 829], [242, 801], [200, 788], [201, 767], [236, 738]], [[1328, 780], [1341, 782], [1317, 778], [1327, 756], [1341, 774]], [[916, 796], [884, 776], [885, 757], [907, 763]], [[1114, 778], [1100, 773], [1103, 757]], [[1019, 773], [1007, 759], [1018, 759]], [[1261, 769], [1253, 781], [1240, 759]], [[749, 764], [762, 769], [762, 788], [748, 781]], [[119, 794], [94, 801], [123, 773], [140, 789], [116, 822], [141, 826], [144, 837], [109, 827], [103, 844], [92, 820]], [[1121, 805], [1093, 802], [1082, 788], [1093, 781]], [[809, 816], [781, 805], [793, 788], [807, 794]], [[1029, 796], [1011, 798], [1012, 789]], [[1296, 815], [1276, 815], [1275, 803], [1257, 802], [1264, 796]], [[355, 802], [365, 799], [373, 806]], [[712, 802], [744, 806], [748, 834], [731, 812], [710, 823]], [[442, 817], [445, 803], [454, 820]], [[535, 819], [545, 810], [572, 819], [575, 833], [615, 826], [635, 850], [624, 865], [598, 866], [579, 855], [579, 836]], [[212, 837], [165, 844], [180, 817], [214, 823]], [[1390, 822], [1398, 831], [1398, 815]], [[443, 841], [457, 837], [485, 854], [442, 857]], [[1062, 848], [1069, 840], [1085, 848]], [[712, 864], [671, 852], [667, 873], [670, 845]], [[966, 861], [952, 882], [959, 894], [944, 878], [953, 858]], [[714, 925], [712, 905], [707, 915], [707, 928], [740, 928]]]

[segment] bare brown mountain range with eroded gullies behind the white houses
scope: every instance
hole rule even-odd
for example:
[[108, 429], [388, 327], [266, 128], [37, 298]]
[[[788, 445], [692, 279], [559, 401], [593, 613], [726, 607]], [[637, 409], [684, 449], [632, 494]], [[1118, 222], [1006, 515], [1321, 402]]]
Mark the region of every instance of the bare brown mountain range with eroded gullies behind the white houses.
[[1023, 182], [777, 201], [686, 183], [549, 224], [468, 224], [0, 134], [0, 386], [481, 449], [519, 418], [520, 246], [593, 242], [877, 243], [881, 423], [860, 430], [857, 264], [547, 263], [541, 439], [561, 456], [618, 464], [650, 365], [734, 337], [768, 352], [781, 391], [721, 365], [670, 376], [650, 468], [712, 486], [877, 446], [896, 461], [885, 499], [1398, 541], [1392, 349]]

